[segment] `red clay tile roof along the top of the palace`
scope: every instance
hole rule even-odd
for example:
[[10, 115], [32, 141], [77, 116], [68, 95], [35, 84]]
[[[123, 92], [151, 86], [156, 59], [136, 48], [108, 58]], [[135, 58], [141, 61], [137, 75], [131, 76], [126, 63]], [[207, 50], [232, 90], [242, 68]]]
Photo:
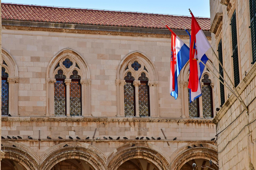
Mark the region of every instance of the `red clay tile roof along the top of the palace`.
[[[183, 26], [188, 30], [191, 28], [191, 17], [184, 16], [5, 3], [1, 7], [2, 20], [166, 29], [163, 21], [171, 29], [184, 30]], [[210, 30], [209, 18], [197, 18], [197, 21], [204, 31]]]

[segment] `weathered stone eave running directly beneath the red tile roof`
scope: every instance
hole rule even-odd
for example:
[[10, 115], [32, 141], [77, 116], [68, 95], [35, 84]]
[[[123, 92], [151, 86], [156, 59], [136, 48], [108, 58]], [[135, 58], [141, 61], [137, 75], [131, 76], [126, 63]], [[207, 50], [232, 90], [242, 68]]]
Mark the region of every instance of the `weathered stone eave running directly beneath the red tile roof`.
[[[2, 20], [2, 26], [16, 26], [29, 28], [46, 28], [46, 30], [41, 31], [50, 31], [50, 29], [59, 29], [58, 32], [61, 32], [61, 29], [64, 30], [87, 30], [87, 31], [96, 31], [100, 32], [119, 32], [119, 33], [131, 33], [136, 34], [150, 34], [150, 35], [166, 35], [170, 37], [171, 32], [168, 29], [153, 29], [153, 28], [134, 28], [134, 27], [116, 27], [116, 26], [98, 26], [98, 25], [82, 25], [82, 24], [63, 24], [63, 23], [46, 23], [46, 22], [33, 22], [33, 21], [16, 21], [16, 20]], [[20, 28], [21, 29], [21, 28]], [[49, 30], [47, 30], [49, 29]], [[55, 30], [57, 31], [57, 30]], [[185, 30], [173, 30], [178, 36], [187, 36]], [[83, 33], [83, 32], [82, 32]], [[98, 33], [99, 34], [99, 33]], [[105, 33], [106, 34], [106, 33]], [[209, 31], [204, 31], [204, 34], [208, 39], [211, 37]]]

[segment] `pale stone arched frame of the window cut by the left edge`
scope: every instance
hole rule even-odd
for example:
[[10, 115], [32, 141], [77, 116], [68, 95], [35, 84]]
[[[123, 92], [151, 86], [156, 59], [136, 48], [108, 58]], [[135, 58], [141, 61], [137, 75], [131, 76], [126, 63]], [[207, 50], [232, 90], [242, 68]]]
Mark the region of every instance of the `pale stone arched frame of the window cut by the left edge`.
[[[5, 61], [5, 64], [3, 63]], [[5, 68], [5, 72], [9, 74], [7, 82], [9, 83], [9, 103], [8, 113], [11, 116], [19, 116], [18, 114], [18, 66], [6, 50], [2, 48], [2, 66]]]

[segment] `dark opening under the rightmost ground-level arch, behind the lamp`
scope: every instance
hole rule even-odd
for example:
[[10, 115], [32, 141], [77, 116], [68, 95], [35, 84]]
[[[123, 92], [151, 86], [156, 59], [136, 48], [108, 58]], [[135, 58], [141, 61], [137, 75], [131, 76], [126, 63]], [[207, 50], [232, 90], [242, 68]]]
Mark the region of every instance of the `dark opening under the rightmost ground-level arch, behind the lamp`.
[[[206, 159], [192, 159], [192, 160], [186, 162], [180, 168], [180, 170], [193, 170], [193, 167], [192, 167], [193, 163], [195, 163], [196, 166], [203, 166], [203, 167], [197, 167], [197, 168], [195, 168], [195, 170], [213, 170], [213, 169], [218, 170], [219, 169], [217, 165], [208, 166], [208, 165], [210, 165], [209, 160], [206, 160]], [[210, 167], [210, 168], [207, 168], [205, 165]]]

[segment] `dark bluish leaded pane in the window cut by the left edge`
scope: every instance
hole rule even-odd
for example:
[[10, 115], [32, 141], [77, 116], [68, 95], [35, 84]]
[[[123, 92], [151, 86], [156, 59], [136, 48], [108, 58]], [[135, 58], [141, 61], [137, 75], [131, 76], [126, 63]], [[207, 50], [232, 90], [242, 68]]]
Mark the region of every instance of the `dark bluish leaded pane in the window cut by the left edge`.
[[2, 115], [8, 115], [8, 82], [2, 80]]

